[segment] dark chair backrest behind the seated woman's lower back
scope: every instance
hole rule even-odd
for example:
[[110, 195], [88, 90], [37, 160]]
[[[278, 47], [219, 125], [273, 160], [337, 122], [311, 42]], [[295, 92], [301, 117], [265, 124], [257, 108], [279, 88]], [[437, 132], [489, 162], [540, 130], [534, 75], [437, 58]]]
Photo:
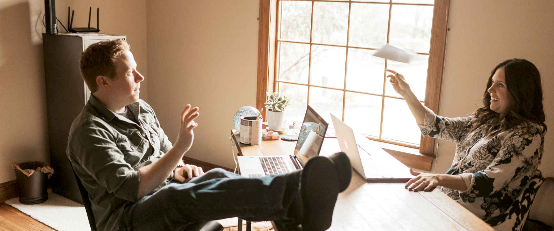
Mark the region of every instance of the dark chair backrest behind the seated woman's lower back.
[[527, 219], [527, 215], [529, 215], [529, 208], [531, 208], [538, 188], [541, 187], [543, 181], [541, 171], [535, 171], [535, 175], [527, 181], [527, 184], [521, 189], [519, 196], [509, 207], [507, 211], [509, 215], [506, 217], [506, 220], [496, 225], [494, 229], [520, 231]]

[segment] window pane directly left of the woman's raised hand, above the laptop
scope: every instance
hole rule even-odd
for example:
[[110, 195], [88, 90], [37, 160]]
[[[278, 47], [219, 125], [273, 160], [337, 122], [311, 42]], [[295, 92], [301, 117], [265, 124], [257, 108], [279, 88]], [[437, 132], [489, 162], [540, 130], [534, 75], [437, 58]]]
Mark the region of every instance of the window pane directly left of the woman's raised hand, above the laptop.
[[381, 96], [346, 93], [345, 121], [356, 125], [356, 131], [379, 138]]

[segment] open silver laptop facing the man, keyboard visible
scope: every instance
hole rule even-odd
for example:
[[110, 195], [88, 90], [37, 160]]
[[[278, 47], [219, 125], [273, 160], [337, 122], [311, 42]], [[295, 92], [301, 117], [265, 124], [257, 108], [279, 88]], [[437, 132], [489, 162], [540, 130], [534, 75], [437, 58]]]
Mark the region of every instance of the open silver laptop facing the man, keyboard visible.
[[245, 177], [263, 177], [304, 168], [310, 158], [319, 156], [329, 124], [307, 106], [294, 155], [238, 156], [240, 174]]

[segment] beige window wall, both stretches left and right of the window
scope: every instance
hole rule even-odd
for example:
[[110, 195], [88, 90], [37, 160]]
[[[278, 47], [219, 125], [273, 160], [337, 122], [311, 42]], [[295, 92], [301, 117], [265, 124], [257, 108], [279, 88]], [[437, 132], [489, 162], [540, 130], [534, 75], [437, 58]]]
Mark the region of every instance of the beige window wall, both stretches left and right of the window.
[[[172, 141], [182, 106], [201, 107], [189, 156], [234, 167], [227, 142], [231, 117], [255, 103], [258, 1], [148, 1], [149, 102]], [[217, 4], [216, 4], [217, 3]], [[237, 6], [235, 6], [237, 5]], [[238, 6], [240, 5], [240, 6]], [[541, 71], [543, 89], [552, 89], [554, 29], [552, 1], [452, 0], [439, 114], [464, 116], [480, 105], [485, 81], [501, 61], [525, 58]], [[164, 23], [170, 20], [172, 23]], [[244, 82], [242, 85], [240, 82]], [[239, 89], [239, 90], [234, 90]], [[552, 91], [545, 90], [547, 125], [541, 170], [554, 176]], [[167, 106], [171, 105], [171, 106]], [[448, 170], [454, 143], [438, 141], [435, 172]]]

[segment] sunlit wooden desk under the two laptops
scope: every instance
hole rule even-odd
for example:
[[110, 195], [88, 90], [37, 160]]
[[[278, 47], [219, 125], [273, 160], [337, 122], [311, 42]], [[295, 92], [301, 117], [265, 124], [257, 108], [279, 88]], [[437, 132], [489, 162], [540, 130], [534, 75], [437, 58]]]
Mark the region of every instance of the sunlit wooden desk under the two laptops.
[[[233, 132], [233, 131], [232, 131]], [[289, 155], [296, 142], [262, 141], [259, 145], [239, 143], [232, 135], [239, 155]], [[320, 155], [340, 151], [336, 138], [325, 138]], [[346, 191], [338, 194], [329, 230], [494, 230], [446, 194], [411, 192], [404, 183], [367, 183], [358, 172]]]

